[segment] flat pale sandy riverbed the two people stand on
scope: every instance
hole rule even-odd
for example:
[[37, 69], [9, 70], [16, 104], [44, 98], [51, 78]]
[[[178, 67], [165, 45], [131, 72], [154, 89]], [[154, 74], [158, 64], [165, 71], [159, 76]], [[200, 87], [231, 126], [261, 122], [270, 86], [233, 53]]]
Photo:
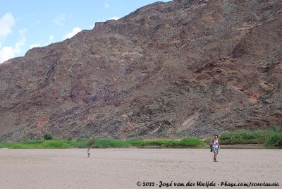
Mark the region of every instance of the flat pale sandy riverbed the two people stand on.
[[[212, 153], [207, 149], [90, 152], [87, 158], [85, 149], [0, 149], [0, 188], [159, 188], [159, 181], [215, 181], [216, 187], [209, 188], [231, 188], [217, 185], [224, 181], [276, 182], [280, 186], [270, 188], [282, 188], [282, 150], [223, 149], [218, 163], [212, 162]], [[137, 187], [137, 181], [154, 182], [154, 186]]]

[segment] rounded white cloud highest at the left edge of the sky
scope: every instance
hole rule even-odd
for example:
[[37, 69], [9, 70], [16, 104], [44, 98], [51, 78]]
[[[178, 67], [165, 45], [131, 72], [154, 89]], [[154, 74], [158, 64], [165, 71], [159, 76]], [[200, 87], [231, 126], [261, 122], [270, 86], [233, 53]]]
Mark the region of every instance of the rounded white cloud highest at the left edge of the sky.
[[11, 32], [13, 25], [15, 25], [15, 19], [11, 13], [6, 13], [0, 18], [0, 40], [5, 39], [6, 35]]

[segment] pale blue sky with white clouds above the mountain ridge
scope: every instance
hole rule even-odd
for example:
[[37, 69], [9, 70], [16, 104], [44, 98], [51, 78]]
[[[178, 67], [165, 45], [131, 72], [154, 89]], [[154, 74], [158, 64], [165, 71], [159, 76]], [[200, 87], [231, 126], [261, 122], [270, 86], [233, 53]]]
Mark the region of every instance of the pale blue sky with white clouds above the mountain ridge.
[[[164, 0], [166, 1], [166, 0]], [[72, 37], [94, 23], [118, 19], [154, 0], [8, 0], [0, 6], [0, 63], [32, 47]]]

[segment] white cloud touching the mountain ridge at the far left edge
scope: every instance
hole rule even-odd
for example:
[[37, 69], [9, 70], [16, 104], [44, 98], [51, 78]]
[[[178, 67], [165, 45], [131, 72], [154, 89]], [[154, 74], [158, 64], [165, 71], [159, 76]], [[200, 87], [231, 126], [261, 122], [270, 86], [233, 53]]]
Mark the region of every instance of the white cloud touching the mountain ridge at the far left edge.
[[18, 54], [21, 53], [22, 47], [25, 45], [25, 32], [27, 30], [19, 30], [19, 34], [21, 38], [16, 42], [14, 47], [2, 47], [0, 49], [0, 63], [3, 63], [4, 61], [7, 61], [8, 59], [12, 59], [15, 56], [18, 56]]

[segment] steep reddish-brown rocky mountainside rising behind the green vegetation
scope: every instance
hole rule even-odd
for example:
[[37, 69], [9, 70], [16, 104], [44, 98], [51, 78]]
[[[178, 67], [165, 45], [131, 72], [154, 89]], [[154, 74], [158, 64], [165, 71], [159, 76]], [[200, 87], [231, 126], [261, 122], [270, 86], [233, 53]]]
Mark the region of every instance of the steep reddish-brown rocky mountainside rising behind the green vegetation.
[[158, 2], [2, 63], [0, 138], [266, 128], [281, 89], [281, 0]]

